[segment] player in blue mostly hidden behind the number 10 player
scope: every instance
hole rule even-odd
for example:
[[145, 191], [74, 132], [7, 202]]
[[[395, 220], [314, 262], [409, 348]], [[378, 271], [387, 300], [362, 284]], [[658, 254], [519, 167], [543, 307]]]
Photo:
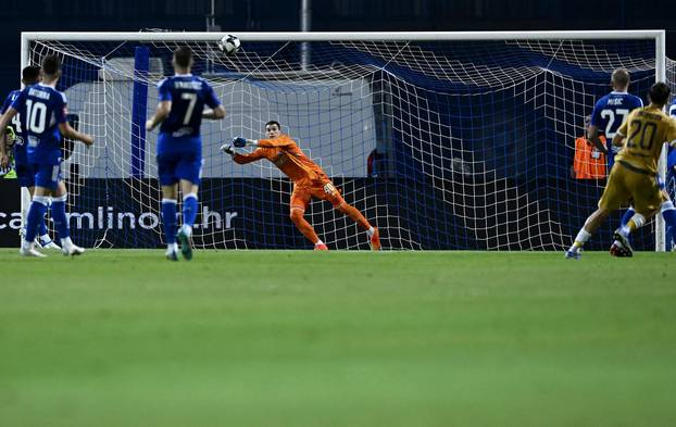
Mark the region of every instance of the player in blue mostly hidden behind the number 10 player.
[[[40, 81], [40, 67], [35, 65], [28, 65], [22, 71], [22, 80], [25, 86], [33, 86]], [[12, 90], [10, 95], [4, 100], [2, 104], [2, 110], [0, 114], [4, 114], [5, 111], [12, 105], [12, 102], [18, 97], [21, 90]], [[14, 169], [16, 171], [16, 178], [18, 180], [18, 185], [25, 188], [30, 197], [35, 192], [35, 172], [30, 167], [28, 163], [28, 154], [26, 154], [26, 145], [24, 143], [23, 128], [21, 125], [21, 114], [16, 114], [10, 126], [14, 129], [14, 134], [16, 138], [14, 139], [13, 152], [14, 152]], [[22, 238], [26, 235], [26, 217], [28, 211], [24, 211], [22, 206], [21, 219], [22, 219]], [[52, 241], [47, 231], [47, 226], [45, 225], [45, 219], [40, 221], [38, 224], [38, 244], [42, 248], [48, 249], [60, 249], [57, 243]]]

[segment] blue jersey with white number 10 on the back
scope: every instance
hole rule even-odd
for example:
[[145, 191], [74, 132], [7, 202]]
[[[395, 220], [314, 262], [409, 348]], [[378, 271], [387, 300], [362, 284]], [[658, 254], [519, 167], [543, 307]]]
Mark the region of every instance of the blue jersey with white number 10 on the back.
[[61, 162], [59, 124], [66, 121], [65, 95], [41, 83], [28, 86], [12, 102], [21, 114], [28, 163], [58, 165]]

